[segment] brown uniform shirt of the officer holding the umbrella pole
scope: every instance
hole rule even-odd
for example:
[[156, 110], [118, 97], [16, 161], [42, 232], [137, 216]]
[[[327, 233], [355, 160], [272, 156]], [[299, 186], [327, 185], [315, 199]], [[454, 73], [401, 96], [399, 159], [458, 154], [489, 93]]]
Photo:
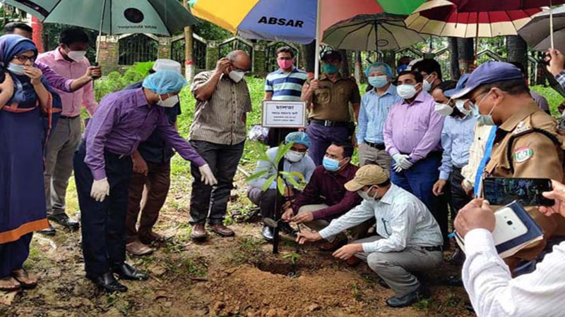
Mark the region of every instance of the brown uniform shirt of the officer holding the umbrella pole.
[[[302, 94], [306, 92], [304, 87]], [[349, 104], [359, 104], [361, 95], [357, 82], [350, 77], [338, 77], [332, 82], [326, 75], [320, 76], [320, 88], [314, 91], [309, 113], [310, 119], [337, 122], [350, 121]]]

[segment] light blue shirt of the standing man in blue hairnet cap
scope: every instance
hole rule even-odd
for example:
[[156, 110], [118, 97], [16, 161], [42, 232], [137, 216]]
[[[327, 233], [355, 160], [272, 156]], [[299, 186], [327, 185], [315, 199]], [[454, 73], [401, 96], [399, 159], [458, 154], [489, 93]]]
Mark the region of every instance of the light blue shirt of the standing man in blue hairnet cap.
[[396, 93], [396, 86], [390, 85], [386, 92], [379, 96], [374, 89], [366, 92], [361, 99], [361, 109], [357, 129], [357, 142], [383, 144], [383, 128], [393, 104], [402, 101]]

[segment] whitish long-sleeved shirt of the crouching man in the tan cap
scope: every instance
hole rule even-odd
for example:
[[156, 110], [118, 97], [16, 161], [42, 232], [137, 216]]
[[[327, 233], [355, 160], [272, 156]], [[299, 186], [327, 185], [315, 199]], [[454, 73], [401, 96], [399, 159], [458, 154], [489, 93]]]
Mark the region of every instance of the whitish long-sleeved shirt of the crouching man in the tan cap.
[[406, 247], [437, 247], [444, 244], [441, 230], [426, 205], [410, 192], [391, 185], [379, 201], [363, 200], [319, 232], [326, 239], [359, 223], [376, 218], [376, 233], [384, 239], [363, 243], [363, 251], [393, 252]]

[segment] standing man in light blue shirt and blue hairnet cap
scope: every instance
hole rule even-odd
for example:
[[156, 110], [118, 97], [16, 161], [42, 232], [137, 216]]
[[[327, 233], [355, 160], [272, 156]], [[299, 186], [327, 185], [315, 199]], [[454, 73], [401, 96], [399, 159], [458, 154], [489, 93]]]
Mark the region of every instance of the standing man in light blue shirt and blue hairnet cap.
[[359, 109], [359, 166], [376, 164], [390, 174], [393, 159], [385, 149], [383, 127], [388, 110], [402, 98], [391, 83], [393, 72], [386, 63], [371, 64], [365, 75], [373, 89], [363, 95]]

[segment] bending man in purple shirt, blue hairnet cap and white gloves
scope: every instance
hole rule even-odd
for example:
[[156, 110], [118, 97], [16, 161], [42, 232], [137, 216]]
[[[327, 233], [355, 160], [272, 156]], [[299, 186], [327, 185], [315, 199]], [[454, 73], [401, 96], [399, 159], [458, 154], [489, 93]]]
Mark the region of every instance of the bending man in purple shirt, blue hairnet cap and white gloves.
[[[160, 70], [143, 80], [143, 88], [107, 95], [86, 127], [73, 163], [81, 207], [86, 277], [107, 292], [126, 292], [113, 273], [126, 280], [145, 280], [126, 259], [126, 211], [133, 166], [130, 155], [153, 130], [201, 172], [202, 181], [217, 181], [206, 161], [169, 122], [165, 108], [179, 101], [186, 85], [174, 70]], [[107, 197], [108, 196], [108, 197]]]

